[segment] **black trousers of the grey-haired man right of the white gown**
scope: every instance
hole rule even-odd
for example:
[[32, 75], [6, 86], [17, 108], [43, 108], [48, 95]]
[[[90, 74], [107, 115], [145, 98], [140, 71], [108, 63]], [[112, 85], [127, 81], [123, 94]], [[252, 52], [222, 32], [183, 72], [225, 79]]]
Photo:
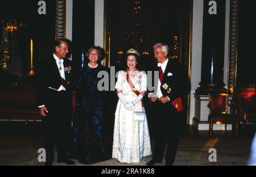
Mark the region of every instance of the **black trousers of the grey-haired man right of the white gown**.
[[154, 127], [154, 150], [153, 159], [158, 162], [163, 161], [164, 149], [167, 143], [166, 164], [171, 165], [175, 161], [177, 145], [180, 136], [181, 112], [178, 113], [170, 102], [162, 104], [152, 103], [154, 111], [152, 123]]

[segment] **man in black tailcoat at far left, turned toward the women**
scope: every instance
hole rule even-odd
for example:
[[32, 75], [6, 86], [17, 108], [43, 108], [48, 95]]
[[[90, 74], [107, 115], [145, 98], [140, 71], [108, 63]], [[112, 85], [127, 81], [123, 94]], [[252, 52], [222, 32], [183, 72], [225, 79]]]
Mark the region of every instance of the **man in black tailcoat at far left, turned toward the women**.
[[36, 75], [36, 99], [43, 116], [45, 165], [54, 161], [54, 145], [57, 144], [57, 161], [73, 165], [68, 159], [71, 146], [71, 61], [65, 59], [68, 53], [67, 39], [55, 41], [55, 51], [43, 61]]

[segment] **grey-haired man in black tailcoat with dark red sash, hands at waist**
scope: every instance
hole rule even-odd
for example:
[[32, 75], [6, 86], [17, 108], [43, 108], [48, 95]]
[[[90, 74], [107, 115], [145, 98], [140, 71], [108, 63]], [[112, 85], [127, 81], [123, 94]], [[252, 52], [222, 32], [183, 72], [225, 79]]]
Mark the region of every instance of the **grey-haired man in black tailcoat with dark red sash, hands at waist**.
[[181, 64], [168, 58], [168, 45], [156, 44], [153, 48], [158, 62], [158, 69], [155, 70], [159, 71], [159, 78], [157, 90], [148, 93], [154, 109], [150, 113], [154, 125], [154, 150], [147, 165], [162, 162], [167, 142], [165, 158], [166, 165], [170, 166], [174, 163], [177, 151], [187, 79]]

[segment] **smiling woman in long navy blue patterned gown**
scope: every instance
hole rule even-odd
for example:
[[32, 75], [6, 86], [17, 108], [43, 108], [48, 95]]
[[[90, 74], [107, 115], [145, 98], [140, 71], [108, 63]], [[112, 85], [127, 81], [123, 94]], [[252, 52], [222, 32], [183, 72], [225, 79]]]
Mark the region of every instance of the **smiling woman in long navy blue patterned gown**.
[[[108, 71], [100, 64], [101, 48], [91, 47], [86, 56], [89, 63], [81, 69], [76, 91], [76, 117], [73, 120], [72, 155], [83, 164], [92, 164], [109, 158], [105, 129], [106, 92], [97, 88], [99, 71]], [[104, 134], [105, 133], [105, 134]]]

